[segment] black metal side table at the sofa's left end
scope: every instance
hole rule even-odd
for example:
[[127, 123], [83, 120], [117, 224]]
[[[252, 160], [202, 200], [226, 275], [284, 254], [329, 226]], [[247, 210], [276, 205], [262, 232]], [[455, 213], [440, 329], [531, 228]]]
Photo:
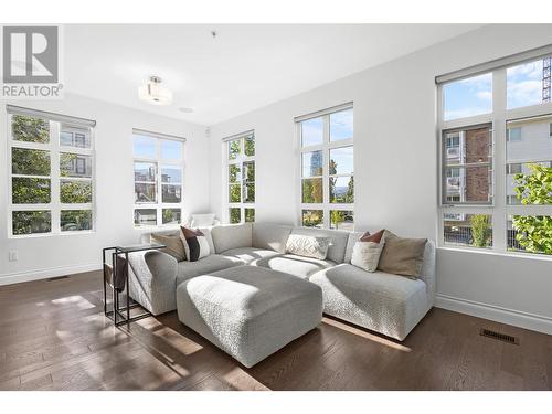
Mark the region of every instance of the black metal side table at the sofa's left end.
[[[128, 277], [130, 273], [130, 264], [128, 262], [128, 254], [136, 252], [145, 252], [145, 251], [156, 251], [159, 248], [167, 247], [163, 244], [139, 244], [135, 246], [115, 246], [115, 247], [106, 247], [102, 251], [102, 259], [104, 264], [104, 315], [113, 320], [115, 326], [119, 326], [123, 323], [130, 323], [135, 320], [147, 318], [151, 316], [151, 312], [145, 310], [139, 315], [135, 315], [130, 317], [130, 310], [135, 308], [144, 307], [130, 298], [129, 295], [129, 284]], [[112, 252], [112, 265], [106, 262], [109, 253]], [[125, 263], [119, 263], [119, 259], [124, 258]], [[118, 266], [126, 266], [126, 268], [121, 269]], [[123, 283], [118, 279], [120, 273], [124, 270], [124, 280]], [[112, 309], [109, 310], [107, 307], [107, 286], [112, 288]], [[126, 304], [125, 306], [119, 306], [119, 295], [125, 294]], [[132, 300], [132, 304], [130, 302]]]

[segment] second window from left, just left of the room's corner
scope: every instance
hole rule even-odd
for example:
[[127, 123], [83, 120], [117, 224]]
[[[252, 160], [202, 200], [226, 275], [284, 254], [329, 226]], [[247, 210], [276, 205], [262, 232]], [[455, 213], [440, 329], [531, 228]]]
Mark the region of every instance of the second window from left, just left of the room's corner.
[[183, 203], [183, 138], [135, 129], [135, 225], [178, 225]]

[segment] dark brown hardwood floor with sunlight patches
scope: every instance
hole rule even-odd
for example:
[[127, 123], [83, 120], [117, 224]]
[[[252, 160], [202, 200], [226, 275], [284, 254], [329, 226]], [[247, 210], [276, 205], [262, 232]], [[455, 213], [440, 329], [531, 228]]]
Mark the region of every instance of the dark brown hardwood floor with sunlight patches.
[[402, 343], [325, 318], [245, 369], [176, 312], [115, 328], [100, 280], [94, 272], [0, 287], [0, 390], [552, 389], [551, 336], [442, 309]]

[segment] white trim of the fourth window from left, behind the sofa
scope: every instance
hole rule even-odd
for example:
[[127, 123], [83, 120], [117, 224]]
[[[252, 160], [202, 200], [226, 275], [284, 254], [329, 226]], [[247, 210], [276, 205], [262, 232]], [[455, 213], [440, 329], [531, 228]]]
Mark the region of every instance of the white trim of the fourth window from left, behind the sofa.
[[[323, 212], [323, 222], [322, 222], [322, 229], [331, 229], [331, 223], [330, 223], [330, 211], [332, 210], [342, 210], [342, 211], [352, 211], [354, 213], [354, 203], [330, 203], [330, 150], [331, 149], [337, 149], [337, 148], [344, 148], [344, 147], [353, 147], [353, 153], [354, 153], [354, 130], [353, 130], [353, 137], [349, 139], [342, 139], [342, 140], [337, 140], [337, 141], [331, 141], [330, 140], [330, 115], [335, 113], [339, 113], [342, 110], [347, 109], [353, 109], [352, 103], [343, 104], [343, 105], [338, 105], [328, 109], [322, 109], [318, 110], [316, 113], [309, 114], [309, 115], [304, 115], [300, 117], [296, 117], [295, 120], [295, 127], [296, 127], [296, 139], [297, 139], [297, 145], [299, 148], [299, 169], [298, 169], [298, 178], [296, 179], [296, 182], [298, 182], [298, 190], [297, 190], [297, 200], [298, 200], [298, 219], [296, 220], [297, 225], [302, 226], [302, 211], [304, 210], [322, 210]], [[322, 118], [322, 144], [318, 145], [311, 145], [308, 147], [302, 146], [302, 137], [301, 137], [301, 123], [308, 119], [314, 119], [314, 118]], [[312, 151], [322, 151], [322, 203], [304, 203], [302, 202], [302, 155], [306, 152], [312, 152]], [[354, 164], [353, 164], [354, 166]], [[320, 176], [316, 177], [310, 177], [310, 178], [319, 178]], [[331, 177], [354, 177], [354, 167], [353, 167], [353, 172], [352, 173], [347, 173], [347, 174], [335, 174]], [[354, 223], [353, 222], [353, 229], [354, 229]]]

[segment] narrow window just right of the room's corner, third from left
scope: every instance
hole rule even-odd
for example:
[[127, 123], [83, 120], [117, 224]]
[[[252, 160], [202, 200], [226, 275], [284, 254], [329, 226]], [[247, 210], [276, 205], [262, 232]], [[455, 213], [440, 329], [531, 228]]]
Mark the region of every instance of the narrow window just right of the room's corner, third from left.
[[224, 139], [226, 222], [255, 221], [255, 131]]

